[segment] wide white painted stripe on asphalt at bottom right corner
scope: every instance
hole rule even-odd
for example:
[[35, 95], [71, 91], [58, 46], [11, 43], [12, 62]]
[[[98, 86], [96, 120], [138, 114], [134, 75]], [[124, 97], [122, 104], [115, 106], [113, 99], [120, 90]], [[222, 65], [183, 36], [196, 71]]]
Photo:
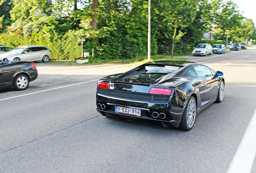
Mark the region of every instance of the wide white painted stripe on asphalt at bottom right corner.
[[256, 154], [256, 110], [227, 173], [250, 173]]

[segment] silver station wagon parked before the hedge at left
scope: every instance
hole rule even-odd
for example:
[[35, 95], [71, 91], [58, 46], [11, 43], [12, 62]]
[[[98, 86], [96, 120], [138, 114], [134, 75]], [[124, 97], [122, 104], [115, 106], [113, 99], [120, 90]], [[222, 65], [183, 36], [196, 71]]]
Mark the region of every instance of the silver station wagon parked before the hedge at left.
[[10, 52], [0, 55], [0, 60], [32, 60], [48, 62], [52, 58], [52, 51], [47, 46], [19, 46]]

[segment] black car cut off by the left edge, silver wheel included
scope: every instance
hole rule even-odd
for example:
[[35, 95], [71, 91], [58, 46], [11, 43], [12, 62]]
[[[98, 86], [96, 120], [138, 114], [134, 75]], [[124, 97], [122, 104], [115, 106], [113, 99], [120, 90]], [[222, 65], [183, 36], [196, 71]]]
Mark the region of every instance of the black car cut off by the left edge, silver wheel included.
[[25, 90], [37, 78], [37, 69], [30, 61], [0, 61], [0, 89], [14, 87]]

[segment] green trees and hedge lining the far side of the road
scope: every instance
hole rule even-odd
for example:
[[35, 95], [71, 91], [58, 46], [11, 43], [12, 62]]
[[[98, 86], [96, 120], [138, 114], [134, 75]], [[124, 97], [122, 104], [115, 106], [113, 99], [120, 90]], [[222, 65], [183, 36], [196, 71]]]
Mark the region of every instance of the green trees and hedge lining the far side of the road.
[[[147, 0], [0, 0], [0, 41], [43, 44], [54, 59], [128, 59], [147, 54]], [[224, 40], [256, 38], [254, 23], [231, 0], [151, 0], [151, 54], [183, 54], [202, 32]]]

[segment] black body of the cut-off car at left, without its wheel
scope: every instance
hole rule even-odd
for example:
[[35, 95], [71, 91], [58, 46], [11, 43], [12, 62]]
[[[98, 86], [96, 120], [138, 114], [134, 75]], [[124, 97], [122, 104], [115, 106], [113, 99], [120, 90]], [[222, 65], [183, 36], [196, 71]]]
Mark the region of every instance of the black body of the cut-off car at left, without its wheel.
[[37, 78], [37, 69], [31, 61], [4, 61], [0, 62], [0, 89], [13, 87], [14, 78], [18, 74], [26, 74], [29, 82]]

